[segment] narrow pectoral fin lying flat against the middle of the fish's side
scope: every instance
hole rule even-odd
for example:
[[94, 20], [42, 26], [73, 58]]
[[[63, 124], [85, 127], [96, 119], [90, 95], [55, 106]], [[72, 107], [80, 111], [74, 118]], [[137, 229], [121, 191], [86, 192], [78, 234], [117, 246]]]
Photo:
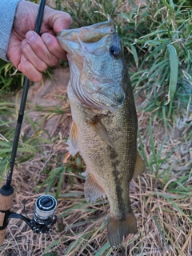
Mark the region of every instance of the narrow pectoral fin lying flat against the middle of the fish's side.
[[98, 134], [107, 144], [109, 144], [110, 146], [112, 146], [114, 148], [114, 144], [111, 141], [109, 135], [107, 134], [107, 130], [106, 127], [103, 125], [101, 120], [90, 120], [88, 121], [90, 126], [94, 129], [94, 131], [96, 132], [96, 134]]

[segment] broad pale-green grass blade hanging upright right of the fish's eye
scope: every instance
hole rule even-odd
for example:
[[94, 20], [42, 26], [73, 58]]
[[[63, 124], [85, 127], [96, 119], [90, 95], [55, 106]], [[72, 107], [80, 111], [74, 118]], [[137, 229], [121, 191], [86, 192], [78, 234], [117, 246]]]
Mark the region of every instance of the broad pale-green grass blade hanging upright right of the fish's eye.
[[170, 86], [168, 93], [168, 104], [173, 98], [178, 82], [178, 55], [173, 45], [167, 46], [170, 58]]

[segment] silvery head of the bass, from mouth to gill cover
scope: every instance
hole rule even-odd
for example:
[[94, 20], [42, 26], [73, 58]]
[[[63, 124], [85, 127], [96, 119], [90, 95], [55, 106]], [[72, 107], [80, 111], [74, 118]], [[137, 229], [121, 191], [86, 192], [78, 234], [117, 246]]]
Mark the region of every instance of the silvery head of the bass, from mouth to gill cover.
[[96, 110], [120, 108], [126, 97], [127, 70], [112, 22], [62, 30], [57, 38], [67, 52], [70, 85], [78, 101]]

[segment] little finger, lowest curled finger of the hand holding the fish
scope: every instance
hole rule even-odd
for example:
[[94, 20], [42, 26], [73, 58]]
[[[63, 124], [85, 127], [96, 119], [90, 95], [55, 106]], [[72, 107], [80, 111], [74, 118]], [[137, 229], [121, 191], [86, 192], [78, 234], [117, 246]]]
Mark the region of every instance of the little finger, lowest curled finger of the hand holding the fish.
[[21, 71], [22, 74], [25, 74], [32, 82], [40, 82], [42, 80], [41, 72], [39, 72], [24, 55], [22, 55], [21, 62], [18, 64], [18, 70]]

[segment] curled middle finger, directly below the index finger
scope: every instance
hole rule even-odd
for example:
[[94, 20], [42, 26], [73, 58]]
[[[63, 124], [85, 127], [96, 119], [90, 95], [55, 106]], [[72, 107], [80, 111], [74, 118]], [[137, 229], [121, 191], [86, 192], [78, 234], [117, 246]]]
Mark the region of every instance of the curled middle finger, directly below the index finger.
[[[54, 36], [52, 36], [54, 37]], [[54, 54], [51, 54], [49, 49], [47, 48], [46, 44], [42, 41], [42, 38], [36, 34], [34, 31], [29, 31], [26, 33], [26, 39], [28, 44], [30, 45], [31, 50], [33, 50], [34, 54], [42, 60], [42, 62], [45, 62], [47, 66], [55, 66], [58, 64], [58, 58], [57, 56], [54, 56]], [[25, 50], [28, 50], [29, 48], [26, 48]], [[24, 52], [23, 52], [24, 54]], [[26, 56], [26, 54], [24, 54]], [[30, 60], [29, 58], [27, 58]], [[37, 60], [35, 58], [34, 60]], [[34, 63], [34, 66], [36, 63]], [[39, 62], [40, 64], [40, 62]], [[37, 66], [38, 68], [38, 66]], [[41, 70], [40, 70], [41, 71]]]

